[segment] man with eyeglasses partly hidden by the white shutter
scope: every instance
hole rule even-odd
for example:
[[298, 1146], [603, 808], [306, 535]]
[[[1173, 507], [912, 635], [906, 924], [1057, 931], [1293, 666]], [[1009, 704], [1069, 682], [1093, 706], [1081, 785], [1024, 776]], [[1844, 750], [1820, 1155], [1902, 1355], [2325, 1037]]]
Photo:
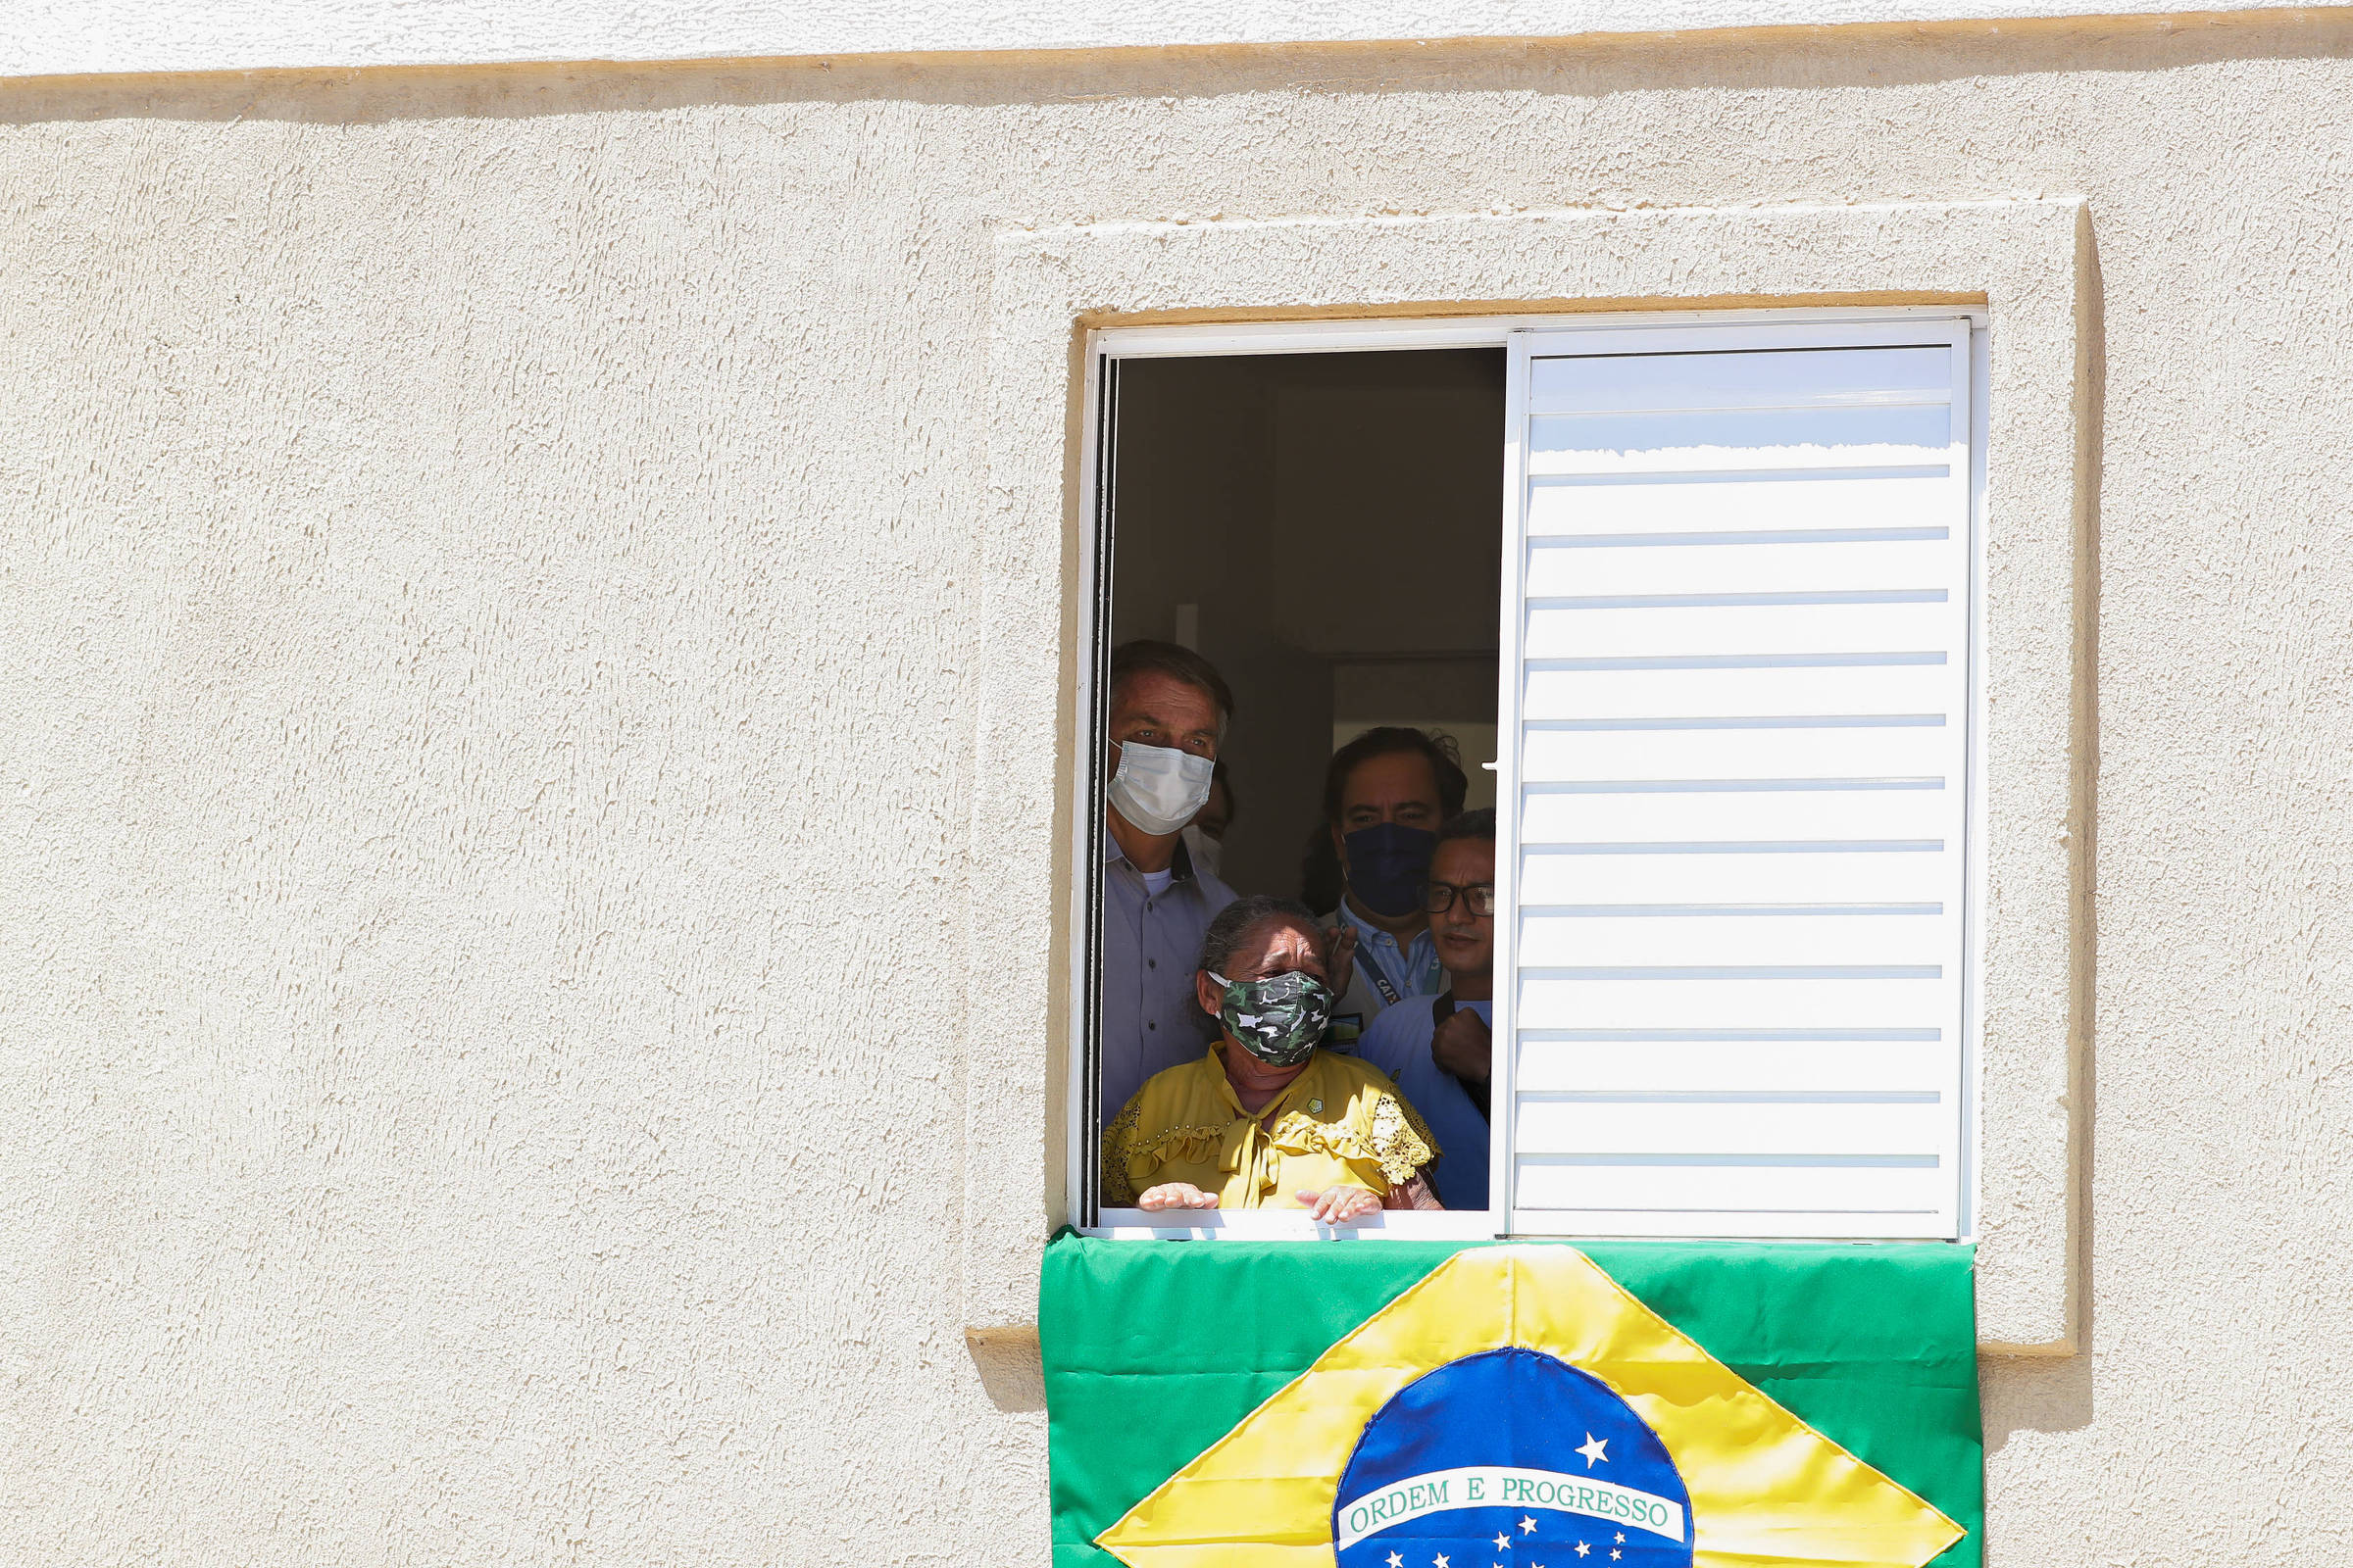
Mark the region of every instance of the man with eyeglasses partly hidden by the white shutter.
[[1358, 1056], [1386, 1072], [1438, 1135], [1426, 1175], [1447, 1208], [1487, 1206], [1487, 1072], [1494, 997], [1494, 811], [1438, 830], [1421, 907], [1447, 973], [1438, 997], [1381, 1009]]

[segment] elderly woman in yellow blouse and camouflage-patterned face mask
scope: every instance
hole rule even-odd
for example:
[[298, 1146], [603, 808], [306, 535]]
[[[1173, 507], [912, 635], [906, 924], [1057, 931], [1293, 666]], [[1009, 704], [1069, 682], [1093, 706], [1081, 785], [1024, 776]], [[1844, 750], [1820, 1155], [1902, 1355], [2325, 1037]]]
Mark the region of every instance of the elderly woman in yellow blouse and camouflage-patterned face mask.
[[1289, 898], [1240, 898], [1202, 938], [1193, 992], [1224, 1025], [1198, 1063], [1153, 1074], [1104, 1133], [1113, 1208], [1292, 1208], [1341, 1225], [1438, 1208], [1438, 1140], [1377, 1067], [1320, 1051], [1329, 933]]

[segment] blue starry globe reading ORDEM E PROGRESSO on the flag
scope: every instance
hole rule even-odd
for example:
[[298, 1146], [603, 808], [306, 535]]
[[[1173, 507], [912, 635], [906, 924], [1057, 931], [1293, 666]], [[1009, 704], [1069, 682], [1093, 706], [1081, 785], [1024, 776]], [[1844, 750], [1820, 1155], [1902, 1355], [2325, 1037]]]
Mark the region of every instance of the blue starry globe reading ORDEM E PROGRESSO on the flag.
[[1692, 1495], [1598, 1378], [1541, 1349], [1487, 1349], [1365, 1422], [1332, 1544], [1339, 1568], [1692, 1568]]

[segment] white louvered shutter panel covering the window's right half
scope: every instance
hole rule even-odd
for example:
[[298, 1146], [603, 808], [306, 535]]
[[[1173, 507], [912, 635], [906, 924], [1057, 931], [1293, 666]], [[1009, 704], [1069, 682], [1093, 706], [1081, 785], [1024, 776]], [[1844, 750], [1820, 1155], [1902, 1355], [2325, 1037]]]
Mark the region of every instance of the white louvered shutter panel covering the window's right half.
[[1967, 322], [1511, 374], [1513, 1229], [1958, 1237]]

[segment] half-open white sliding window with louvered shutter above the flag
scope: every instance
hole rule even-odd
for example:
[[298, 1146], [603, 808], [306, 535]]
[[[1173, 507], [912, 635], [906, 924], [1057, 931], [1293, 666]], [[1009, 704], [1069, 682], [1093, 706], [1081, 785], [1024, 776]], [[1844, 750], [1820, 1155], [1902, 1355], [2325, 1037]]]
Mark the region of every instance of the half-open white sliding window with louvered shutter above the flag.
[[[1094, 1201], [1101, 675], [1158, 635], [1224, 637], [1254, 691], [1294, 693], [1289, 726], [1240, 701], [1224, 752], [1238, 875], [1271, 891], [1315, 820], [1297, 752], [1353, 724], [1445, 731], [1492, 788], [1489, 1206], [1381, 1229], [1969, 1232], [1965, 315], [1148, 329], [1096, 334], [1092, 360], [1075, 1220], [1313, 1229]], [[1162, 440], [1186, 421], [1191, 447]], [[1242, 569], [1172, 564], [1202, 517], [1231, 531], [1268, 498]], [[1313, 602], [1231, 625], [1254, 569]], [[1369, 588], [1398, 574], [1417, 614]]]

